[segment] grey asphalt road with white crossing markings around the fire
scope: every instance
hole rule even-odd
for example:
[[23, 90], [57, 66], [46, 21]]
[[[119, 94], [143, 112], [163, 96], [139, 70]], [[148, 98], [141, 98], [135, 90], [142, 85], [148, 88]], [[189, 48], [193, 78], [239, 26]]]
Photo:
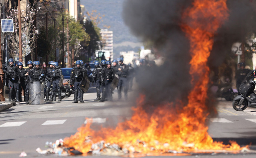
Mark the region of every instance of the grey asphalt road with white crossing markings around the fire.
[[[17, 158], [23, 151], [28, 157], [58, 157], [38, 154], [35, 149], [40, 147], [45, 150], [47, 148], [44, 144], [47, 141], [54, 142], [73, 135], [77, 128], [86, 123], [86, 117], [94, 118], [98, 121], [96, 124], [105, 127], [114, 127], [120, 118], [131, 117], [131, 107], [123, 100], [116, 101], [116, 95], [113, 96], [115, 102], [95, 102], [93, 101], [95, 98], [96, 90], [92, 87], [84, 94], [85, 103], [72, 104], [72, 95], [63, 99], [63, 102], [47, 102], [44, 105], [26, 105], [22, 102], [0, 112], [0, 158]], [[234, 140], [240, 145], [251, 144], [250, 148], [256, 149], [255, 115], [256, 108], [237, 112], [233, 110], [232, 102], [220, 101], [218, 116], [209, 120], [209, 134], [215, 141], [223, 141], [224, 144]], [[244, 156], [254, 158], [256, 154], [195, 154], [179, 157], [240, 158]]]

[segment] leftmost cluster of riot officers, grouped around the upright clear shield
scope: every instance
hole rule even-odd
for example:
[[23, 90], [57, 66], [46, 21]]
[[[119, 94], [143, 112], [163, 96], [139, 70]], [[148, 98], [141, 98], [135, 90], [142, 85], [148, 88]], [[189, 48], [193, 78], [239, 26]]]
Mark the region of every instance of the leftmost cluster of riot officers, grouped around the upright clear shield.
[[[29, 85], [32, 85], [33, 82], [43, 83], [45, 79], [47, 80], [45, 101], [56, 101], [56, 91], [58, 91], [58, 101], [61, 101], [61, 91], [58, 84], [62, 76], [62, 71], [58, 62], [49, 62], [49, 68], [47, 68], [46, 72], [43, 68], [40, 68], [39, 61], [32, 62], [29, 60], [27, 65], [29, 67], [27, 69], [23, 68], [22, 62], [17, 62], [16, 66], [14, 60], [10, 58], [8, 60], [8, 65], [3, 68], [6, 86], [10, 88], [9, 101], [21, 102], [21, 88], [23, 88], [24, 100], [26, 104], [29, 104]], [[52, 93], [49, 99], [49, 89], [51, 85]]]

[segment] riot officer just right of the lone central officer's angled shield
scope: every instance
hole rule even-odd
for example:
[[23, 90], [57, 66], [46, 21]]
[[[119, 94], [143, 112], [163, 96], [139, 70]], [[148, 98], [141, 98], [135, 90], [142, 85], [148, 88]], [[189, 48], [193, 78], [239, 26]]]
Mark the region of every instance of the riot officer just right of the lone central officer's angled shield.
[[93, 70], [93, 75], [92, 75], [92, 85], [95, 82], [95, 87], [96, 87], [96, 92], [97, 92], [97, 98], [94, 99], [94, 101], [99, 101], [100, 100], [100, 86], [101, 83], [103, 82], [102, 79], [102, 68], [100, 67], [99, 61], [94, 61], [94, 70]]

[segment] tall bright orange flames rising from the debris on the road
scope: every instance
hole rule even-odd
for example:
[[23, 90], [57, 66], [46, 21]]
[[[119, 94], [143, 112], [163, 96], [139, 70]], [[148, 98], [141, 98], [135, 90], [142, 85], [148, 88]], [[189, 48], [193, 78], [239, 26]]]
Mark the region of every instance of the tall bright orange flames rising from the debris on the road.
[[[66, 147], [74, 147], [83, 153], [92, 145], [105, 141], [118, 144], [129, 152], [164, 153], [170, 150], [198, 152], [200, 150], [241, 150], [236, 142], [224, 145], [215, 142], [207, 133], [207, 85], [209, 68], [207, 58], [213, 45], [213, 37], [218, 28], [227, 20], [226, 0], [195, 0], [191, 8], [183, 14], [181, 27], [190, 40], [193, 89], [189, 102], [171, 109], [173, 103], [164, 104], [148, 114], [143, 110], [145, 96], [141, 95], [130, 120], [119, 123], [115, 129], [102, 128], [94, 131], [90, 123], [80, 127], [75, 135], [64, 139]], [[148, 105], [150, 106], [150, 105]]]

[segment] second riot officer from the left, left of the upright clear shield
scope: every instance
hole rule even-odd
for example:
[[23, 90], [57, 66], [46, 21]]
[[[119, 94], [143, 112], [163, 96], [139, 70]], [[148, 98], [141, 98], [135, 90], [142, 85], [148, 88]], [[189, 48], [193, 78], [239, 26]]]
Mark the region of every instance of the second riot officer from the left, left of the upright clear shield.
[[[17, 66], [18, 66], [18, 74], [19, 74], [19, 88], [17, 89], [17, 94], [19, 97], [19, 101], [22, 102], [22, 99], [21, 99], [21, 91], [22, 91], [22, 88], [23, 88], [23, 91], [24, 91], [24, 100], [26, 101], [26, 96], [25, 96], [25, 91], [26, 91], [26, 70], [23, 68], [23, 64], [22, 62], [18, 62], [17, 63]], [[21, 88], [22, 87], [22, 88]], [[17, 96], [16, 96], [17, 98]]]

